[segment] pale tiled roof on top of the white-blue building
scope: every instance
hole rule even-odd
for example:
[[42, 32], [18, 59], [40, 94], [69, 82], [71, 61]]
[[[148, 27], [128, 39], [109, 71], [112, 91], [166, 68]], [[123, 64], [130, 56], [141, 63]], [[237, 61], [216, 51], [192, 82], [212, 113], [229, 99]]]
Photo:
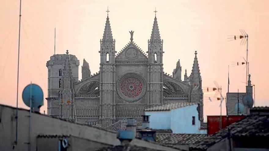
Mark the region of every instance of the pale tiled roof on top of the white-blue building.
[[165, 104], [161, 106], [154, 106], [154, 107], [145, 109], [145, 111], [169, 111], [169, 110], [173, 110], [173, 109], [177, 109], [177, 108], [181, 108], [185, 106], [192, 106], [196, 104], [197, 103], [193, 103], [193, 102], [170, 103], [170, 104]]

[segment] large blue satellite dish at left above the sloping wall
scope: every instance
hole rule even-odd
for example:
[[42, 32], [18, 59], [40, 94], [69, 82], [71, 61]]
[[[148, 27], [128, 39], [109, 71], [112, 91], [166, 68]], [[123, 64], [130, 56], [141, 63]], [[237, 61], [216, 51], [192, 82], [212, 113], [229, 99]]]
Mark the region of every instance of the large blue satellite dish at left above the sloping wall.
[[25, 105], [30, 107], [30, 94], [32, 95], [32, 108], [39, 108], [44, 105], [43, 102], [43, 91], [37, 84], [29, 84], [27, 85], [22, 92], [22, 99]]

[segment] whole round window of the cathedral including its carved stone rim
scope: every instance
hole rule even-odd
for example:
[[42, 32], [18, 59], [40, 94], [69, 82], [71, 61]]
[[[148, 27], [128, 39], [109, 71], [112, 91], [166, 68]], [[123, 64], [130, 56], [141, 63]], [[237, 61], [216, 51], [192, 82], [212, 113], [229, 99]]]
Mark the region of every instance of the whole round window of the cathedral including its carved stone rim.
[[146, 82], [138, 74], [125, 74], [117, 83], [117, 91], [125, 101], [135, 102], [145, 95]]

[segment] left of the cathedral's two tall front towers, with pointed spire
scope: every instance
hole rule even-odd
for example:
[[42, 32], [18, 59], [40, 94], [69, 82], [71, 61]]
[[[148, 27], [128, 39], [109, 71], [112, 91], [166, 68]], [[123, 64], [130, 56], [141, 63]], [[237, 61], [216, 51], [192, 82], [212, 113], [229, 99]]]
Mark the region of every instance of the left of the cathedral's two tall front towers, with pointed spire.
[[[107, 13], [109, 11], [107, 10]], [[116, 120], [116, 65], [115, 40], [113, 40], [109, 17], [106, 18], [103, 39], [100, 40], [100, 113], [99, 123], [104, 127]]]

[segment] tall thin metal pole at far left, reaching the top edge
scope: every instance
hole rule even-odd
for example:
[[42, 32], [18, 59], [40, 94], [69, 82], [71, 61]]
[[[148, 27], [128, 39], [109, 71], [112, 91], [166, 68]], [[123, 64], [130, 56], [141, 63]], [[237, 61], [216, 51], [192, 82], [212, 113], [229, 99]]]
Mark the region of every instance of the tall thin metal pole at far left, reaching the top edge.
[[[20, 0], [20, 17], [21, 17], [21, 0]], [[16, 103], [16, 140], [18, 143], [18, 92], [19, 92], [19, 63], [20, 63], [20, 20], [19, 20], [19, 45], [18, 45], [18, 70], [17, 70], [17, 103]]]

